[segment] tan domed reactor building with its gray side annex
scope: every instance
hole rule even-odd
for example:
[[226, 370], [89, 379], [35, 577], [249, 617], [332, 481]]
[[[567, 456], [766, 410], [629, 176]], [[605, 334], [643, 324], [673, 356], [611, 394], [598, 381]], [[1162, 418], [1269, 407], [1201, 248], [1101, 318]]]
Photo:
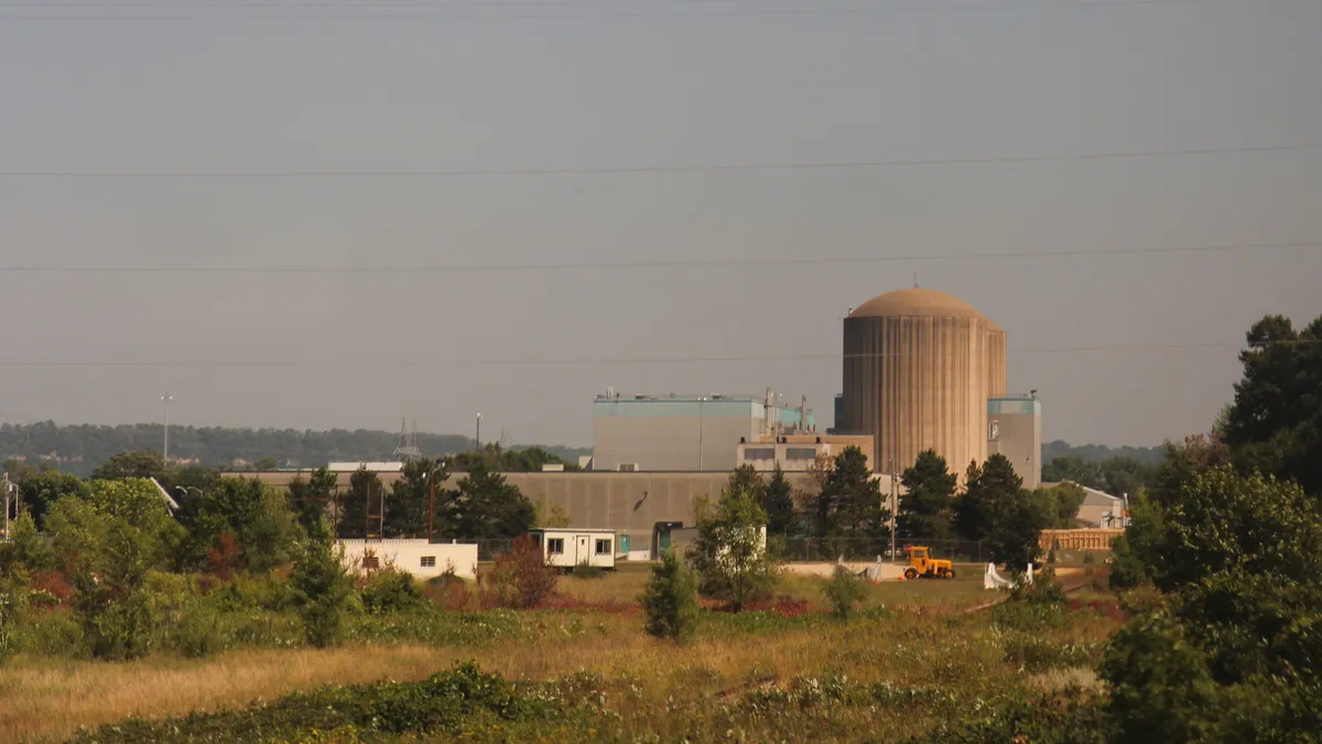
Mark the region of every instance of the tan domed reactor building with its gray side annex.
[[1010, 457], [1025, 486], [1035, 487], [1040, 405], [1032, 396], [1006, 397], [1006, 336], [945, 293], [874, 297], [845, 319], [833, 432], [871, 434], [878, 473], [898, 474], [933, 449], [962, 478], [990, 450]]

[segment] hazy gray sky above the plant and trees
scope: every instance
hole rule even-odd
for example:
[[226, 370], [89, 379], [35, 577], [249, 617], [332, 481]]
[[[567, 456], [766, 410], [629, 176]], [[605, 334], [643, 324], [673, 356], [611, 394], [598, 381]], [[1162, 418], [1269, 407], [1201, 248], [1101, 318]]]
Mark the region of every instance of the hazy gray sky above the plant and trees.
[[[988, 1], [915, 12], [899, 0], [293, 11], [5, 0], [0, 265], [518, 266], [1322, 241], [1322, 3]], [[1263, 146], [1306, 148], [1013, 160]], [[526, 173], [954, 159], [1011, 162]], [[419, 169], [506, 173], [50, 176]], [[169, 392], [172, 421], [188, 424], [390, 429], [410, 416], [467, 433], [481, 410], [484, 437], [504, 428], [514, 441], [587, 445], [590, 401], [608, 385], [772, 385], [805, 392], [825, 422], [841, 318], [911, 285], [914, 270], [1010, 331], [1010, 388], [1040, 389], [1046, 437], [1077, 443], [1206, 429], [1239, 372], [1231, 347], [1117, 347], [1236, 344], [1265, 312], [1322, 314], [1319, 246], [706, 269], [8, 271], [0, 418], [152, 421]], [[693, 361], [713, 356], [800, 359]], [[494, 364], [603, 359], [616, 361]], [[653, 361], [620, 361], [637, 359]], [[196, 364], [13, 364], [45, 360]]]

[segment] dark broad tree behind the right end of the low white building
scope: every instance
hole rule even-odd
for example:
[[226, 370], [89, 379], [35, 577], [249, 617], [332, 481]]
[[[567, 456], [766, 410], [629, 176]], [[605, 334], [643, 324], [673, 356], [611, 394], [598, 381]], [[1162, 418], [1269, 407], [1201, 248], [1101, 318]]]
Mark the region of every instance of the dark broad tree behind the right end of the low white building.
[[488, 540], [527, 532], [537, 508], [502, 475], [479, 467], [446, 492], [443, 514], [447, 537]]

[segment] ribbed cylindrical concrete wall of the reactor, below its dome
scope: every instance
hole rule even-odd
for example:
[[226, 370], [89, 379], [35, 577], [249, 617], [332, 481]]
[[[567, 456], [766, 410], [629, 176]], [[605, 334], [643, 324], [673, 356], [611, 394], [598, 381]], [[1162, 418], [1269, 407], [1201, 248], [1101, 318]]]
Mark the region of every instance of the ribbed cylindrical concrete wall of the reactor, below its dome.
[[935, 449], [951, 470], [986, 459], [989, 322], [981, 316], [845, 319], [847, 432], [873, 434], [875, 470]]

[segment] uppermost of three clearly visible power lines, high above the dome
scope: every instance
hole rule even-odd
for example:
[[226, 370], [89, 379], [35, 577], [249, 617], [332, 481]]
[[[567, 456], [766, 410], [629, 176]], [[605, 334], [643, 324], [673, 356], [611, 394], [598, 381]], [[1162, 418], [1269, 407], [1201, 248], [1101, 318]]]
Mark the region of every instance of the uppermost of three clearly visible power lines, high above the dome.
[[379, 171], [0, 171], [7, 179], [394, 179], [469, 176], [615, 176], [629, 173], [707, 173], [773, 171], [858, 171], [870, 168], [914, 168], [944, 165], [992, 165], [1010, 163], [1056, 163], [1071, 160], [1125, 160], [1144, 158], [1188, 158], [1200, 155], [1247, 155], [1298, 152], [1314, 144], [1266, 144], [1247, 147], [1206, 147], [1196, 150], [1140, 150], [1129, 152], [1088, 152], [1076, 155], [1022, 155], [998, 158], [931, 158], [911, 160], [838, 160], [804, 163], [710, 163], [678, 165], [615, 165], [587, 168], [510, 169], [379, 169]]

